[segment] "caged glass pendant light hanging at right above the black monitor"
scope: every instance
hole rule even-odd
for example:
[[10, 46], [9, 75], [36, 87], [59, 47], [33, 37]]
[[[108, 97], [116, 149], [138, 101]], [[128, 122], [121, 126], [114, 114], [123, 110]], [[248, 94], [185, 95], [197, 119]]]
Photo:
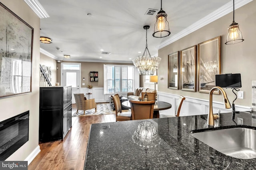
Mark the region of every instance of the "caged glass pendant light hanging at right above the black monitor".
[[233, 22], [229, 25], [225, 44], [236, 44], [244, 41], [238, 23], [235, 22], [235, 2], [233, 0]]

